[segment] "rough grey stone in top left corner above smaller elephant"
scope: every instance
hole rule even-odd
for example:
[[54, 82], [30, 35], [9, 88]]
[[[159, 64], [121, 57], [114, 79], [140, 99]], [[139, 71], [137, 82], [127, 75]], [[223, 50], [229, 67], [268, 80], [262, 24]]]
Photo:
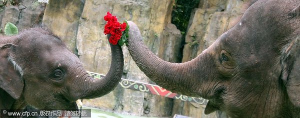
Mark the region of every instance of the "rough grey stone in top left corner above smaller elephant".
[[45, 4], [37, 0], [17, 0], [18, 4], [0, 2], [0, 26], [1, 32], [7, 22], [15, 24], [18, 29], [27, 29], [41, 24]]

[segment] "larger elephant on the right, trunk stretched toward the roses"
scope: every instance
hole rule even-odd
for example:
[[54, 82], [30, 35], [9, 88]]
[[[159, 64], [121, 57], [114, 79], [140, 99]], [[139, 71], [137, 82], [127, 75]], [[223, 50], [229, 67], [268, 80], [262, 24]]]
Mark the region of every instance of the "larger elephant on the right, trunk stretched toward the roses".
[[127, 49], [157, 85], [208, 99], [204, 114], [300, 118], [300, 0], [257, 0], [194, 59], [164, 61], [128, 21]]

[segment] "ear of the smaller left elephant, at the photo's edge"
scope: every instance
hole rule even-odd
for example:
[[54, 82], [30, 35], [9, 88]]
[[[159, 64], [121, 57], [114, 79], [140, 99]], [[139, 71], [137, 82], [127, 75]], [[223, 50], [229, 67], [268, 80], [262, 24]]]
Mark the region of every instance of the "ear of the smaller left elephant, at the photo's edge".
[[14, 69], [15, 65], [9, 61], [9, 54], [15, 47], [13, 44], [0, 46], [0, 88], [13, 99], [18, 99], [24, 84], [21, 81], [20, 73]]

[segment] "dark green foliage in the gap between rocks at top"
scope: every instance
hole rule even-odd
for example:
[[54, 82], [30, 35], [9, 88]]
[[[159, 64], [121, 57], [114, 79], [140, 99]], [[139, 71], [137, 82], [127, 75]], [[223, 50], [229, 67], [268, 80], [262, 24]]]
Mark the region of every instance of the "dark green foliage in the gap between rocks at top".
[[192, 9], [196, 8], [200, 0], [175, 0], [172, 11], [172, 23], [185, 34]]

